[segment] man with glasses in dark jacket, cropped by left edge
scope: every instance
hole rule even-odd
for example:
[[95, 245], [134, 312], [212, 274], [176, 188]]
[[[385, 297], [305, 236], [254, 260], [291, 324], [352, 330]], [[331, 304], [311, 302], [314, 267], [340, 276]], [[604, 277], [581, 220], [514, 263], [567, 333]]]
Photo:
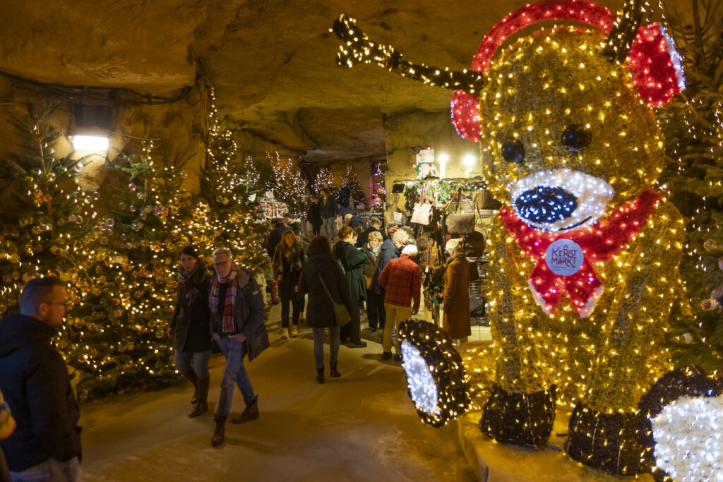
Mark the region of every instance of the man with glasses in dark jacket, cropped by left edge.
[[13, 480], [40, 474], [82, 480], [80, 412], [63, 358], [51, 345], [67, 299], [58, 278], [35, 278], [22, 288], [20, 314], [0, 320], [0, 390], [17, 422], [0, 447]]

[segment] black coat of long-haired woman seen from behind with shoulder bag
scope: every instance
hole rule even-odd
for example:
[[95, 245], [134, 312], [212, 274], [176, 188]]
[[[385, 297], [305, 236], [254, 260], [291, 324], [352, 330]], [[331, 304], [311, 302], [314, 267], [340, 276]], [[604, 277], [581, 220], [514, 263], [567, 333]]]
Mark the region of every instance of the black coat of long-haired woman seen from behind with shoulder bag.
[[334, 322], [334, 306], [319, 278], [324, 280], [326, 288], [336, 303], [343, 303], [351, 313], [351, 298], [346, 276], [341, 272], [338, 262], [331, 254], [312, 254], [304, 264], [299, 278], [299, 294], [309, 293], [307, 323], [312, 328], [329, 328]]

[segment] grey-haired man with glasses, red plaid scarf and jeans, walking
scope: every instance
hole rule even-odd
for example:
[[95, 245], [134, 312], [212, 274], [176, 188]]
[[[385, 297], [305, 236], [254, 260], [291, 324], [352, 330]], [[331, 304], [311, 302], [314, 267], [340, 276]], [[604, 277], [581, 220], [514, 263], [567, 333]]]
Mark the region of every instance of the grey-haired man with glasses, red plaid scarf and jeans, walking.
[[231, 412], [234, 385], [244, 395], [246, 408], [231, 423], [244, 423], [259, 418], [258, 396], [244, 367], [244, 356], [249, 362], [269, 347], [269, 336], [264, 320], [266, 309], [260, 288], [251, 272], [239, 268], [231, 251], [218, 248], [211, 254], [215, 276], [208, 304], [211, 309], [210, 332], [218, 341], [226, 357], [221, 380], [221, 396], [215, 416], [216, 428], [212, 447], [221, 447], [224, 441], [226, 418]]

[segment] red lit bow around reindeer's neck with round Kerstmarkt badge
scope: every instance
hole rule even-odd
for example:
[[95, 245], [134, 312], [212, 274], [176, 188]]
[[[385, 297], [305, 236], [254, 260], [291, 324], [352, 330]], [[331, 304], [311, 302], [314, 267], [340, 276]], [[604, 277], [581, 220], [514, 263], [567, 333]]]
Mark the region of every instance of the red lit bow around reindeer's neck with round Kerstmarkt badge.
[[[615, 210], [609, 218], [587, 228], [563, 233], [531, 228], [509, 207], [502, 207], [500, 220], [507, 232], [536, 263], [528, 283], [537, 304], [542, 306], [547, 314], [552, 314], [565, 292], [578, 316], [589, 317], [603, 291], [602, 281], [595, 273], [594, 264], [609, 261], [635, 238], [659, 199], [660, 194], [653, 189], [647, 189], [637, 199]], [[555, 246], [552, 246], [548, 253], [548, 248], [553, 243]], [[559, 255], [560, 252], [565, 256]], [[579, 258], [580, 254], [582, 259]], [[565, 272], [571, 274], [560, 274]]]

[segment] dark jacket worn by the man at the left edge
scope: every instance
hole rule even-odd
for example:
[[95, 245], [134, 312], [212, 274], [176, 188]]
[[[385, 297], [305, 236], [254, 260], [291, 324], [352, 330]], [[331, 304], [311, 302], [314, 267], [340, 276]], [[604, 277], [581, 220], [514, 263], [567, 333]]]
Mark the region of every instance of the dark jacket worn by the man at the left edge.
[[80, 412], [63, 357], [51, 345], [54, 335], [54, 327], [33, 317], [0, 320], [0, 390], [17, 422], [0, 446], [12, 472], [81, 456]]

